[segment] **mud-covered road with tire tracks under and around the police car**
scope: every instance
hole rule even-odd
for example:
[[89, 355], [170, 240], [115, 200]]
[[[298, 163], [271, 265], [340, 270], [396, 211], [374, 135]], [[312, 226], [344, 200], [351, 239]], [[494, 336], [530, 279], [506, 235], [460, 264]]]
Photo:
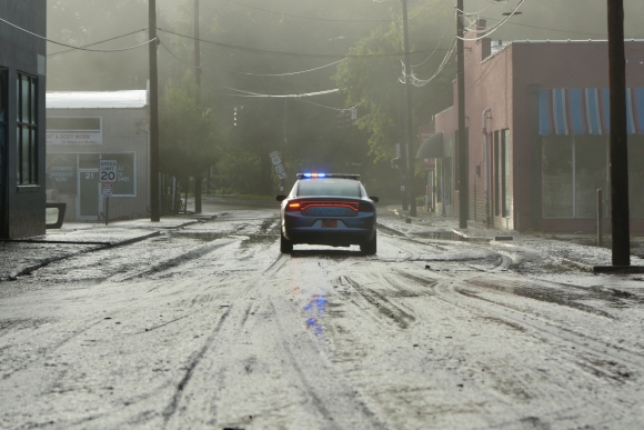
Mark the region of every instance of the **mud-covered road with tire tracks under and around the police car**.
[[641, 276], [380, 223], [281, 256], [229, 208], [0, 282], [0, 428], [642, 428]]

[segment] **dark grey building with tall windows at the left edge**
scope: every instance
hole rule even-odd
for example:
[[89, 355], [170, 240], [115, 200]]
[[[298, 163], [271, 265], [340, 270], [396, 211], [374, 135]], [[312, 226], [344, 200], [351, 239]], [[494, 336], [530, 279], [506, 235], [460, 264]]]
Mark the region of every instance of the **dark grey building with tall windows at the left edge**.
[[47, 1], [0, 1], [0, 238], [44, 233]]

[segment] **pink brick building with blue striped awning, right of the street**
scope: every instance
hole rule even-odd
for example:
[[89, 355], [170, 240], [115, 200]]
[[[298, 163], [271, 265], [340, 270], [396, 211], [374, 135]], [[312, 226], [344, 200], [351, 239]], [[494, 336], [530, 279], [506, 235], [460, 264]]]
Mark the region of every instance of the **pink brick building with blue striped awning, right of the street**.
[[[481, 29], [484, 22], [479, 23]], [[473, 33], [470, 33], [473, 34]], [[472, 36], [473, 37], [473, 36]], [[625, 41], [632, 230], [644, 231], [644, 41]], [[608, 196], [606, 41], [465, 42], [472, 221], [509, 230], [593, 231]], [[457, 94], [435, 114], [436, 212], [459, 214]]]

